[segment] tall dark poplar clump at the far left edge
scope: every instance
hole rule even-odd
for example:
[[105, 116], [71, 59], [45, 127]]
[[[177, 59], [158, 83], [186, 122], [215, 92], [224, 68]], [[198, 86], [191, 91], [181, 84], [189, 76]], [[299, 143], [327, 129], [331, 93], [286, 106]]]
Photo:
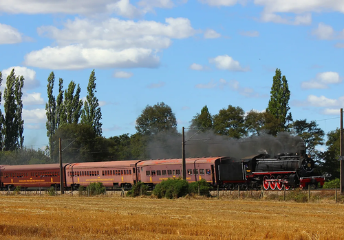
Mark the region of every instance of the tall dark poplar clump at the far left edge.
[[16, 77], [14, 69], [7, 77], [6, 88], [3, 94], [5, 100], [4, 111], [4, 149], [6, 151], [14, 151], [23, 144], [23, 120], [21, 119], [21, 111], [23, 104], [21, 102], [22, 88], [24, 77]]

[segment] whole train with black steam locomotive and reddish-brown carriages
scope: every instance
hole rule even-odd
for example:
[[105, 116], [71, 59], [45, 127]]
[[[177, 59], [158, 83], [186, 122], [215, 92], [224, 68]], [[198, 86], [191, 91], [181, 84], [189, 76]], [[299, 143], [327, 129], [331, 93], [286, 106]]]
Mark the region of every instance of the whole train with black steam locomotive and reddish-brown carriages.
[[[288, 190], [322, 187], [323, 176], [313, 176], [314, 160], [302, 154], [257, 154], [244, 158], [228, 156], [186, 158], [186, 180], [206, 180], [224, 189]], [[78, 189], [102, 182], [111, 189], [130, 189], [137, 182], [153, 188], [168, 178], [182, 178], [182, 158], [64, 163], [63, 187]], [[1, 165], [1, 189], [60, 188], [60, 165]]]

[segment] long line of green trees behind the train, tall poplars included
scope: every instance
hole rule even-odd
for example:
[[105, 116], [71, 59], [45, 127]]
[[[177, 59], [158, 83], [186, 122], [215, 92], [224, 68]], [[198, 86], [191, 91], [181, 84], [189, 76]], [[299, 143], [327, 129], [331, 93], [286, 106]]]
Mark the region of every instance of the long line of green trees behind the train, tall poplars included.
[[[1, 72], [0, 72], [0, 81]], [[62, 139], [63, 161], [65, 163], [149, 159], [152, 156], [180, 157], [181, 133], [177, 130], [177, 120], [170, 106], [158, 102], [147, 105], [136, 119], [136, 133], [105, 138], [102, 132], [102, 114], [96, 97], [96, 75], [89, 76], [87, 96], [80, 99], [80, 85], [69, 82], [64, 89], [63, 79], [58, 79], [58, 92], [54, 95], [54, 72], [47, 78], [47, 150], [32, 154], [32, 149], [23, 148], [23, 119], [21, 113], [23, 76], [15, 76], [14, 69], [8, 75], [4, 91], [4, 115], [0, 112], [0, 156], [1, 164], [57, 163], [59, 139]], [[0, 82], [1, 84], [1, 82]], [[339, 130], [329, 132], [325, 142], [325, 132], [315, 121], [293, 120], [289, 106], [290, 91], [285, 75], [276, 69], [272, 79], [270, 100], [263, 112], [245, 112], [239, 106], [228, 105], [211, 115], [207, 106], [196, 113], [190, 121], [189, 132], [211, 133], [223, 139], [247, 139], [269, 135], [277, 137], [288, 132], [299, 136], [305, 143], [308, 154], [316, 159], [321, 173], [330, 178], [339, 176]], [[1, 93], [0, 93], [1, 102]], [[325, 144], [325, 151], [316, 149]], [[21, 159], [8, 157], [4, 152], [21, 153]], [[23, 154], [24, 152], [24, 154]], [[152, 154], [152, 153], [155, 153]], [[164, 154], [161, 154], [164, 152]], [[26, 158], [23, 155], [27, 154]], [[159, 155], [160, 154], [160, 155]], [[5, 156], [6, 155], [6, 156]]]

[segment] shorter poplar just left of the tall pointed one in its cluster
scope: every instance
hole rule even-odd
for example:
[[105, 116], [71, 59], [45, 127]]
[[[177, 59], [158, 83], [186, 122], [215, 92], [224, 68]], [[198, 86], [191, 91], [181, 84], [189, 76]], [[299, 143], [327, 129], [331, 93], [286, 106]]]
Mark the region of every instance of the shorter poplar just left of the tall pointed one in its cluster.
[[80, 99], [80, 85], [78, 84], [74, 94], [75, 87], [75, 82], [71, 81], [68, 85], [68, 89], [65, 90], [64, 107], [67, 115], [67, 123], [78, 123], [81, 115], [81, 108], [83, 107], [83, 100]]

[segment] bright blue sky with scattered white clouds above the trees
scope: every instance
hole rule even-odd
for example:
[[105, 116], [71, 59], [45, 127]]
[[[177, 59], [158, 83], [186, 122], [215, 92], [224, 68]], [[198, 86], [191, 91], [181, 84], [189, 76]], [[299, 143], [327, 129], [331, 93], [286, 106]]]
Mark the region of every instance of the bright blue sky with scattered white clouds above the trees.
[[[288, 80], [294, 120], [340, 127], [344, 106], [341, 0], [0, 0], [1, 91], [25, 77], [24, 145], [43, 148], [47, 77], [87, 95], [96, 72], [103, 136], [135, 134], [164, 102], [178, 130], [206, 105], [266, 109], [272, 77]], [[3, 101], [1, 102], [3, 108]]]

